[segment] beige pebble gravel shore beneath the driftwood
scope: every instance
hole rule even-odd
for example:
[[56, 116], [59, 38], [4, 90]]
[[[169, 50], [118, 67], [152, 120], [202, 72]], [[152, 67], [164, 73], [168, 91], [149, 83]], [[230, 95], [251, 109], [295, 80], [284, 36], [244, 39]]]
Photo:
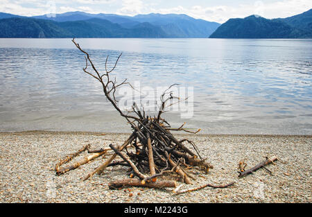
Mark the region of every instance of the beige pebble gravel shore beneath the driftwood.
[[[312, 136], [177, 135], [194, 141], [202, 157], [214, 165], [208, 174], [195, 175], [193, 186], [183, 188], [236, 181], [227, 189], [207, 187], [180, 195], [173, 189], [108, 189], [111, 180], [127, 177], [124, 166], [107, 168], [102, 175], [82, 182], [80, 178], [100, 165], [102, 157], [55, 176], [54, 166], [60, 158], [86, 144], [92, 149], [107, 148], [111, 143], [121, 145], [127, 137], [98, 132], [1, 132], [0, 202], [312, 202]], [[261, 168], [238, 178], [240, 160], [248, 164], [248, 169], [272, 155], [281, 159], [267, 166], [272, 175]]]

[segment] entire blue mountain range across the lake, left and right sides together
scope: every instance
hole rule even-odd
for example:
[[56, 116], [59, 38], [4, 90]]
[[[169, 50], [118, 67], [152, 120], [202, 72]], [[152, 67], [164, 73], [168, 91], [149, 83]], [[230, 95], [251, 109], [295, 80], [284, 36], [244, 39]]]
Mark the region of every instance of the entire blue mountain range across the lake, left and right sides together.
[[77, 11], [22, 17], [0, 12], [0, 37], [312, 38], [312, 9], [283, 19], [251, 15], [222, 25], [175, 14], [130, 17]]

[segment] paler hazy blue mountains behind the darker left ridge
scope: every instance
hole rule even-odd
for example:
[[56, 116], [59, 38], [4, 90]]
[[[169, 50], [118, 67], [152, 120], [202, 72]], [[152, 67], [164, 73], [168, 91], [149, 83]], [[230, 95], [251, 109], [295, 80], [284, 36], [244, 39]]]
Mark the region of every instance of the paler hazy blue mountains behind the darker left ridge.
[[[123, 28], [134, 28], [142, 23], [149, 23], [154, 29], [153, 31], [159, 34], [159, 28], [166, 33], [166, 37], [209, 37], [220, 24], [216, 22], [209, 22], [203, 19], [194, 19], [187, 15], [136, 15], [134, 17], [112, 15], [112, 14], [89, 14], [86, 12], [66, 12], [57, 14], [55, 17], [46, 15], [36, 16], [37, 19], [49, 19], [53, 21], [82, 21], [90, 18], [105, 19], [114, 24], [119, 24]], [[151, 26], [150, 26], [151, 28]], [[150, 31], [152, 31], [150, 29]], [[163, 35], [163, 34], [160, 34]], [[157, 35], [155, 35], [157, 37]]]

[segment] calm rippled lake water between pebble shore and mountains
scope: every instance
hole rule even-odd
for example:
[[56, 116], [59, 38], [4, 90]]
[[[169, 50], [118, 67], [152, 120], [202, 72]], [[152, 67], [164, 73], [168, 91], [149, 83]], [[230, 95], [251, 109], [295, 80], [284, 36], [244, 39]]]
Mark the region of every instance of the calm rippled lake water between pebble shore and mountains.
[[[141, 86], [193, 87], [202, 133], [312, 134], [312, 40], [77, 39], [98, 69]], [[0, 39], [0, 131], [130, 132], [71, 39]]]

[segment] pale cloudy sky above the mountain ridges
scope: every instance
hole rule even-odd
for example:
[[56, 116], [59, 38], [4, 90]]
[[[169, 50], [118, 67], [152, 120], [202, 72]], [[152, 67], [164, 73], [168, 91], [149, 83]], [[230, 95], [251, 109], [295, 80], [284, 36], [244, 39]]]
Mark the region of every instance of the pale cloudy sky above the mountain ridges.
[[268, 19], [291, 17], [311, 8], [311, 0], [0, 0], [0, 12], [23, 16], [69, 11], [130, 16], [153, 12], [186, 14], [219, 23], [249, 15]]

